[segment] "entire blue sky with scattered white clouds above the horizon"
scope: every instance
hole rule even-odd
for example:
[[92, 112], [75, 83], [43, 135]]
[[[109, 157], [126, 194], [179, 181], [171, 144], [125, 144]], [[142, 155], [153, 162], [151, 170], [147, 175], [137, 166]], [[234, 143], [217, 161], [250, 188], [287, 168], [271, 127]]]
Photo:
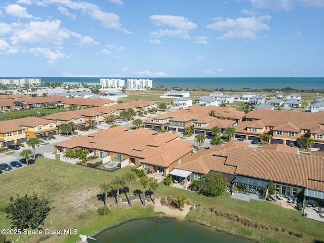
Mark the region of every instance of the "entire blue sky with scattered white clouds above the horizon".
[[0, 76], [324, 76], [324, 0], [0, 3]]

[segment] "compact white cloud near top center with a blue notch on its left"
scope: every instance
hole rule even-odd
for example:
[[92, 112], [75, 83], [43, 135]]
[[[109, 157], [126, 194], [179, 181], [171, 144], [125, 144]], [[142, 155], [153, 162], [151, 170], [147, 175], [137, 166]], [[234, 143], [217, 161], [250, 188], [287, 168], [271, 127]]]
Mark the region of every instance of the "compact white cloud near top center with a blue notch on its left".
[[182, 38], [189, 37], [189, 30], [197, 28], [197, 25], [190, 22], [188, 19], [182, 16], [171, 15], [151, 15], [150, 20], [155, 26], [167, 25], [171, 29], [159, 29], [151, 33], [152, 36], [181, 36]]

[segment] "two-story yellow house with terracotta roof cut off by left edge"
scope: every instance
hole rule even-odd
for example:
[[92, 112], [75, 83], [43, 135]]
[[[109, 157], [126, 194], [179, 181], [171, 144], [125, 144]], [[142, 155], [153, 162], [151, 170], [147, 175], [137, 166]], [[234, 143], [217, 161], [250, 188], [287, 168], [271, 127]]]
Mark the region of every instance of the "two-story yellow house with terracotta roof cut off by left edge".
[[25, 128], [0, 121], [0, 145], [2, 148], [26, 141]]

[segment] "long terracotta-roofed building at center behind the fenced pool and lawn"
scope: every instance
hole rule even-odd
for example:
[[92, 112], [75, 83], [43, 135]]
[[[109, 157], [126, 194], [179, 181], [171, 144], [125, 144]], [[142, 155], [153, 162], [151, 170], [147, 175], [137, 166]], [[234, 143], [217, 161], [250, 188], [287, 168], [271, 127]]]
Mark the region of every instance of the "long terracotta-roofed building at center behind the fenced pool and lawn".
[[179, 135], [165, 133], [157, 136], [145, 129], [135, 131], [112, 128], [55, 144], [56, 153], [67, 149], [85, 149], [103, 160], [133, 164], [148, 173], [169, 174], [189, 157], [193, 150], [191, 142], [178, 140]]

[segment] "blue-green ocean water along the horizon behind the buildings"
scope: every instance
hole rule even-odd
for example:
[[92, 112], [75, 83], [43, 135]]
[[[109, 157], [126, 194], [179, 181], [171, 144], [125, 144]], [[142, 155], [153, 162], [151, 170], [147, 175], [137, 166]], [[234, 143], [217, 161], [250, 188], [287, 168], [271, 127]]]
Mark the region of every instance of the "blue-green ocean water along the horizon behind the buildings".
[[[23, 77], [1, 77], [23, 78]], [[42, 83], [100, 83], [100, 77], [31, 77], [41, 78]], [[103, 77], [104, 78], [104, 77]], [[118, 77], [117, 77], [118, 78]], [[127, 78], [123, 77], [127, 82]], [[152, 77], [153, 87], [210, 88], [210, 89], [284, 89], [324, 90], [324, 77]]]

